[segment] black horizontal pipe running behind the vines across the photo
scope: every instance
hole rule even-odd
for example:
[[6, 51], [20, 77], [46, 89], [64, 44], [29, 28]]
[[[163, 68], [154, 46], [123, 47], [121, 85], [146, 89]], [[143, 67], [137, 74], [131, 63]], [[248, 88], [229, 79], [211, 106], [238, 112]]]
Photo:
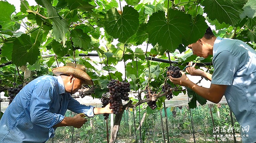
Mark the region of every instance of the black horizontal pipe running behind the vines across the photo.
[[[42, 55], [42, 58], [45, 58], [45, 57], [52, 57], [52, 56], [55, 56], [56, 54], [46, 54], [46, 55]], [[64, 57], [69, 57], [70, 55], [67, 54], [65, 55]], [[89, 54], [83, 54], [83, 53], [80, 53], [79, 54], [80, 57], [86, 57], [86, 56], [90, 56], [90, 57], [97, 57], [99, 56], [97, 53], [89, 53]], [[169, 60], [166, 60], [166, 59], [159, 59], [159, 58], [154, 58], [154, 57], [147, 57], [145, 58], [146, 60], [152, 60], [152, 61], [156, 61], [156, 62], [162, 62], [162, 63], [174, 63], [174, 64], [179, 64], [178, 61], [169, 61]], [[4, 67], [4, 66], [7, 66], [7, 65], [11, 65], [13, 64], [12, 61], [9, 61], [7, 63], [3, 63], [0, 65], [0, 68], [1, 67]], [[187, 62], [186, 64], [189, 64], [189, 62]], [[196, 63], [196, 66], [210, 66], [211, 65], [211, 62], [206, 62], [206, 63]]]

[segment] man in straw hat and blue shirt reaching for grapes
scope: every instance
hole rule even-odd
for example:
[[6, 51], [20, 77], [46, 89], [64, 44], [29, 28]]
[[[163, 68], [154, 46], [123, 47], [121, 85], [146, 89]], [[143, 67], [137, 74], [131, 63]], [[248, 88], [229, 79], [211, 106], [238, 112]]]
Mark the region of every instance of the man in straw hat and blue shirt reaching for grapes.
[[42, 143], [54, 136], [57, 127], [80, 128], [87, 122], [81, 114], [65, 117], [67, 109], [88, 117], [112, 113], [110, 105], [94, 108], [71, 97], [82, 84], [93, 85], [84, 66], [67, 63], [52, 72], [57, 76], [34, 79], [13, 99], [0, 120], [0, 143]]

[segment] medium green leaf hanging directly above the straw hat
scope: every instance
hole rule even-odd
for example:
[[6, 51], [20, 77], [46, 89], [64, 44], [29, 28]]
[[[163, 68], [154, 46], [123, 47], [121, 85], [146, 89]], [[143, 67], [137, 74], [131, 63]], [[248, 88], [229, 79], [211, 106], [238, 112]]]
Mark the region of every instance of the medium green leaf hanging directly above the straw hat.
[[74, 46], [81, 47], [84, 50], [87, 50], [91, 47], [91, 38], [87, 35], [87, 33], [84, 33], [82, 29], [72, 30], [70, 36], [72, 37]]

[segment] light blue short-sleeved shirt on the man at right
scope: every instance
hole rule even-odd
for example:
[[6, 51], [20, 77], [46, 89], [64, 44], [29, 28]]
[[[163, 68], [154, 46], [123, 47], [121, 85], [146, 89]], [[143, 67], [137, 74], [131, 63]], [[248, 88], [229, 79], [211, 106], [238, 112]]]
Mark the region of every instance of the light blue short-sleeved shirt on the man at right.
[[227, 103], [241, 125], [243, 143], [256, 142], [256, 51], [240, 40], [218, 37], [212, 83], [227, 85]]

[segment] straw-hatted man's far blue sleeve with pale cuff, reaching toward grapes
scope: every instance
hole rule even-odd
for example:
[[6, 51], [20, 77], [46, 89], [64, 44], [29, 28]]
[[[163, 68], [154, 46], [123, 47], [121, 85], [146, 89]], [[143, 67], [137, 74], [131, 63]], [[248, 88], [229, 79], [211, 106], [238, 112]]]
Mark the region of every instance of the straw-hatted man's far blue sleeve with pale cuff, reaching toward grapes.
[[75, 113], [84, 113], [88, 117], [94, 116], [93, 106], [82, 105], [72, 97], [68, 102], [67, 109]]

